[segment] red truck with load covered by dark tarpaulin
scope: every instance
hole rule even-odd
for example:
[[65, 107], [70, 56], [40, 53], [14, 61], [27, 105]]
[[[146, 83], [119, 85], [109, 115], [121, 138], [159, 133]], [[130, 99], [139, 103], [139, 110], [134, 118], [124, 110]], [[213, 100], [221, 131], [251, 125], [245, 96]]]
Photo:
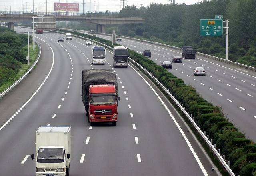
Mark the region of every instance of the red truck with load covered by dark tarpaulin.
[[118, 120], [118, 83], [113, 70], [83, 70], [82, 99], [92, 126], [95, 122]]

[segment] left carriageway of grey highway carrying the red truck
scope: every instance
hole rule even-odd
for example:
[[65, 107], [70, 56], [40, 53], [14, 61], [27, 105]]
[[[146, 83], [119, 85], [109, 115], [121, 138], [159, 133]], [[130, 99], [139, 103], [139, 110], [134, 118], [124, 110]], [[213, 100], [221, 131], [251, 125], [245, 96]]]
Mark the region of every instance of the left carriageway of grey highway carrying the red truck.
[[[28, 29], [20, 29], [24, 32]], [[61, 34], [36, 34], [42, 57], [33, 72], [0, 101], [0, 173], [32, 176], [35, 132], [40, 125], [70, 125], [70, 175], [218, 175], [188, 127], [138, 69], [90, 63], [91, 46]], [[116, 126], [87, 122], [81, 97], [83, 69], [116, 72], [121, 101]], [[9, 120], [10, 119], [10, 120]], [[8, 121], [9, 120], [9, 121]]]

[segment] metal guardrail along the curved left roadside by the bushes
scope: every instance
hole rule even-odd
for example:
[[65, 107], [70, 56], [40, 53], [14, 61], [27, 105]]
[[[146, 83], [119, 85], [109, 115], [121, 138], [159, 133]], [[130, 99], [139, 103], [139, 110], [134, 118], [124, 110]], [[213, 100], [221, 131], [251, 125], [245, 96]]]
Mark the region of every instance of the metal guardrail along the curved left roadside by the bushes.
[[36, 42], [36, 44], [38, 45], [38, 48], [39, 48], [39, 54], [36, 58], [36, 61], [34, 62], [34, 64], [32, 64], [32, 66], [18, 80], [16, 80], [11, 86], [9, 86], [6, 90], [4, 90], [4, 92], [2, 92], [0, 94], [0, 99], [3, 98], [6, 94], [8, 94], [8, 92], [10, 92], [10, 90], [12, 90], [15, 86], [20, 84], [20, 82], [22, 82], [22, 80], [24, 80], [24, 78], [26, 78], [26, 76], [28, 76], [28, 74], [31, 72], [31, 70], [34, 68], [34, 66], [38, 62], [38, 60], [41, 56], [41, 46], [38, 43], [38, 41], [35, 41], [35, 42]]

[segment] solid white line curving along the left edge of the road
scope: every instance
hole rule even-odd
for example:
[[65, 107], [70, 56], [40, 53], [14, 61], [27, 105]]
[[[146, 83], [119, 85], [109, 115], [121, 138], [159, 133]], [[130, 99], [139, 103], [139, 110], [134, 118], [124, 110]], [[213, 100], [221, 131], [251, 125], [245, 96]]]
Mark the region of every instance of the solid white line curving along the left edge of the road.
[[[36, 38], [38, 38], [38, 37], [36, 37]], [[40, 38], [38, 38], [38, 39], [40, 39]], [[40, 39], [40, 40], [42, 40], [42, 39]], [[45, 42], [44, 40], [42, 40], [43, 42]], [[50, 48], [51, 48], [51, 46], [47, 43], [47, 42], [45, 42]], [[52, 50], [52, 48], [51, 48], [51, 50]], [[53, 66], [54, 66], [54, 52], [53, 52], [53, 50], [52, 50], [52, 58], [53, 58], [53, 60], [52, 60], [52, 66], [51, 66], [51, 68], [50, 68], [50, 71], [49, 71], [49, 73], [47, 74], [47, 76], [46, 76], [46, 78], [44, 79], [44, 81], [42, 82], [42, 84], [39, 86], [39, 88], [36, 90], [36, 92], [34, 92], [34, 94], [28, 99], [28, 101], [26, 101], [26, 103], [25, 104], [23, 104], [23, 106], [7, 121], [7, 122], [5, 122], [5, 124], [3, 124], [2, 126], [1, 126], [1, 128], [0, 128], [0, 131], [28, 104], [28, 102], [30, 102], [30, 100], [36, 95], [36, 93], [40, 90], [40, 88], [44, 85], [44, 82], [47, 80], [47, 78], [49, 77], [49, 75], [51, 74], [51, 72], [52, 72], [52, 68], [53, 68]]]

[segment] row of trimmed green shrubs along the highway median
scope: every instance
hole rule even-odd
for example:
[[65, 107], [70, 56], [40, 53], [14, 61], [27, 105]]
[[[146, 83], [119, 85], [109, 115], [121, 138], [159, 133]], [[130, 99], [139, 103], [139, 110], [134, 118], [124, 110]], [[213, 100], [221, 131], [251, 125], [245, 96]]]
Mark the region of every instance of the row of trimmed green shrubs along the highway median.
[[[91, 38], [110, 47], [120, 46], [118, 44], [112, 45], [110, 41], [102, 38], [77, 32], [73, 32], [73, 34]], [[256, 174], [256, 144], [247, 139], [234, 124], [228, 122], [221, 107], [214, 106], [204, 100], [194, 87], [184, 84], [182, 79], [177, 78], [152, 60], [129, 49], [128, 53], [130, 58], [153, 74], [184, 105], [186, 111], [192, 114], [200, 129], [206, 131], [206, 134], [209, 134], [210, 139], [221, 150], [221, 153], [226, 155], [234, 174], [240, 176]]]

